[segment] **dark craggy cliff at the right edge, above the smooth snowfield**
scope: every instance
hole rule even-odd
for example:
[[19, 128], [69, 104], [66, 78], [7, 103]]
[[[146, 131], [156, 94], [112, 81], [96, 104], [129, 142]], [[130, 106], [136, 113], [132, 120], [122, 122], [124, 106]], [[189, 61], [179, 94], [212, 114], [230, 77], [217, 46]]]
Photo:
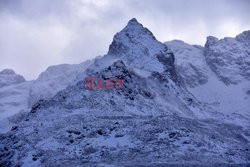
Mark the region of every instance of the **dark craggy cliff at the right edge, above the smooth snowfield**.
[[236, 38], [208, 37], [205, 57], [208, 65], [225, 84], [250, 80], [249, 31]]

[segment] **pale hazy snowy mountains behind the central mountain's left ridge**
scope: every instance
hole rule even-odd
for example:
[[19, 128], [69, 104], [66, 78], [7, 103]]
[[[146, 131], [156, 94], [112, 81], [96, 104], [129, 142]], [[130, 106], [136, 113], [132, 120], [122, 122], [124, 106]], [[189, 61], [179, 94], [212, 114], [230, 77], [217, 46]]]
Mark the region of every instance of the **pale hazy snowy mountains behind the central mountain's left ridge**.
[[50, 66], [33, 81], [25, 81], [13, 70], [0, 72], [0, 133], [9, 131], [18, 123], [16, 114], [28, 112], [40, 99], [48, 99], [65, 89], [92, 62]]

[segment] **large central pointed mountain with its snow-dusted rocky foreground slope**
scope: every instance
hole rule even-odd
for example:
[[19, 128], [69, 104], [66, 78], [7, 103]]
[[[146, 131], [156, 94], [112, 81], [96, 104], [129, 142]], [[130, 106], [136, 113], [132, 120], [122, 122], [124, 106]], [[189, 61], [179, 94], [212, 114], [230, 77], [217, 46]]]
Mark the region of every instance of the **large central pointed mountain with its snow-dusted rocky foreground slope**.
[[[180, 45], [202, 57], [195, 47]], [[180, 55], [188, 57], [191, 52], [184, 53]], [[130, 20], [115, 35], [107, 55], [78, 74], [74, 84], [37, 102], [12, 131], [0, 135], [0, 164], [247, 166], [249, 119], [227, 117], [199, 102], [183, 86], [188, 75], [179, 75], [175, 67], [169, 47]], [[210, 68], [197, 68], [207, 80], [195, 85], [184, 81], [190, 90], [209, 83]], [[190, 73], [197, 80], [200, 74], [194, 71]], [[86, 89], [85, 77], [118, 78], [124, 84], [122, 89]], [[240, 124], [234, 124], [237, 119]]]

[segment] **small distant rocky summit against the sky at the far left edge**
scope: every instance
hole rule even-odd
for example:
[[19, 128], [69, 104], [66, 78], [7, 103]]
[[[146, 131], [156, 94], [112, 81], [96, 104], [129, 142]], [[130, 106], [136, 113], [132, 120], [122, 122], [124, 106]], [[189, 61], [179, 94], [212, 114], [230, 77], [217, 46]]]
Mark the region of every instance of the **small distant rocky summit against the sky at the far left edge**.
[[24, 77], [16, 74], [12, 69], [4, 69], [0, 72], [0, 88], [22, 82], [25, 82]]

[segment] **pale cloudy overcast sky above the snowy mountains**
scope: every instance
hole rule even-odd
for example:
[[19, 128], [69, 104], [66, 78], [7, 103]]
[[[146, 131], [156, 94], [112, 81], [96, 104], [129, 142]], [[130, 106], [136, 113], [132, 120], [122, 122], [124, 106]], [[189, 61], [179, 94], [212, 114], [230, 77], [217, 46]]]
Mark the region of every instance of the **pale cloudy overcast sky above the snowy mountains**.
[[35, 79], [49, 65], [104, 55], [135, 17], [162, 42], [204, 45], [250, 30], [249, 0], [0, 0], [0, 70]]

